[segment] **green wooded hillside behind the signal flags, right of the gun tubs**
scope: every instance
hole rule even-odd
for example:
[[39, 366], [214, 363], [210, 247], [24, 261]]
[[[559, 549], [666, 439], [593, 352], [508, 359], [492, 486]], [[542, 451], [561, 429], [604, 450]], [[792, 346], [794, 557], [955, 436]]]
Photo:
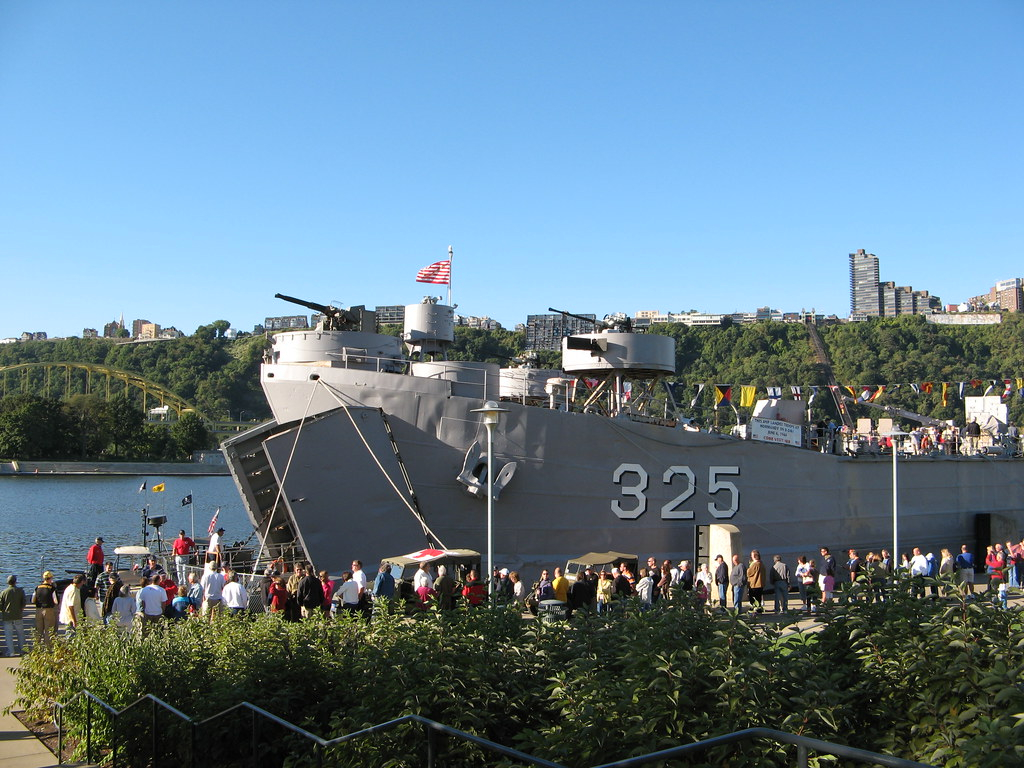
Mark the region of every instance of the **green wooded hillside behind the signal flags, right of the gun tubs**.
[[[810, 388], [819, 388], [811, 406], [811, 419], [838, 418], [835, 399], [824, 387], [827, 370], [815, 357], [810, 332], [801, 324], [763, 322], [726, 328], [690, 328], [678, 324], [655, 326], [654, 333], [676, 340], [676, 368], [680, 391], [692, 396], [698, 384], [733, 387], [733, 402], [738, 402], [738, 387], [782, 388], [791, 397], [790, 387], [803, 387], [806, 402]], [[874, 318], [865, 323], [845, 323], [818, 329], [833, 373], [841, 386], [851, 386], [854, 396], [862, 387], [885, 390], [874, 399], [880, 406], [892, 406], [934, 419], [964, 423], [964, 401], [958, 394], [961, 382], [966, 396], [1004, 391], [1004, 381], [1012, 381], [1014, 391], [1007, 398], [1009, 418], [1017, 424], [1024, 420], [1024, 398], [1017, 391], [1017, 379], [1024, 378], [1024, 316], [1005, 314], [1002, 323], [992, 326], [944, 326], [928, 323], [923, 315]], [[947, 387], [943, 403], [942, 383]], [[993, 384], [994, 382], [994, 384]], [[925, 391], [931, 384], [931, 392]], [[898, 385], [898, 386], [897, 386]], [[916, 385], [921, 391], [914, 389]], [[846, 392], [849, 394], [849, 392]], [[682, 399], [682, 398], [680, 398]], [[700, 420], [713, 418], [712, 394], [706, 391], [691, 415]], [[681, 402], [684, 410], [689, 401]], [[878, 419], [880, 413], [866, 406], [852, 404], [854, 418]], [[734, 419], [731, 410], [717, 414], [726, 423]]]

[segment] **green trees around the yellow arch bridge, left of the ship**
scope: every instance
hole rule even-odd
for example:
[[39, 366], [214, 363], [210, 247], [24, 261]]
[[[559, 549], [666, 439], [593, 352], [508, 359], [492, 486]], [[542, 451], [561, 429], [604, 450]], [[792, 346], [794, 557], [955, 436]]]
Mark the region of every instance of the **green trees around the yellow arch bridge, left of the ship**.
[[[113, 339], [56, 339], [0, 345], [0, 368], [22, 364], [82, 362], [118, 369], [159, 384], [211, 419], [269, 416], [259, 388], [262, 336], [228, 339], [226, 321], [201, 326], [180, 339], [125, 343]], [[46, 371], [0, 373], [0, 457], [20, 460], [174, 461], [213, 446], [203, 419], [185, 412], [150, 421], [156, 404], [140, 390], [106, 397], [97, 375], [49, 376]]]

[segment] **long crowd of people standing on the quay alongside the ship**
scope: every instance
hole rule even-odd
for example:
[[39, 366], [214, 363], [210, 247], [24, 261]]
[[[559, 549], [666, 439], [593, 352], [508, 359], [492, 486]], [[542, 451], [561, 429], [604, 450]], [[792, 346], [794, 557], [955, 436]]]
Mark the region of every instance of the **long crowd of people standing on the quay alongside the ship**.
[[[183, 530], [179, 540], [180, 546], [176, 541], [172, 548], [177, 581], [157, 558], [150, 557], [138, 569], [135, 592], [115, 570], [114, 563], [104, 559], [101, 538], [89, 548], [88, 571], [76, 574], [59, 594], [53, 573], [45, 571], [31, 597], [36, 609], [36, 642], [48, 645], [56, 637], [58, 626], [73, 633], [86, 620], [121, 626], [139, 624], [144, 630], [162, 621], [246, 612], [250, 594], [244, 580], [220, 562], [216, 551], [207, 556], [202, 573], [197, 573], [187, 564], [195, 544], [187, 544], [191, 540]], [[801, 555], [791, 564], [777, 554], [764, 559], [755, 549], [746, 559], [734, 554], [727, 562], [718, 555], [712, 563], [701, 562], [696, 567], [689, 560], [658, 563], [651, 556], [646, 567], [636, 571], [630, 561], [610, 569], [587, 567], [573, 578], [560, 567], [545, 568], [529, 588], [518, 571], [508, 568], [496, 568], [492, 578], [496, 601], [535, 613], [558, 607], [569, 618], [580, 610], [604, 613], [627, 605], [646, 610], [657, 603], [672, 602], [706, 609], [745, 609], [757, 614], [767, 610], [769, 601], [775, 612], [790, 611], [792, 601], [798, 609], [815, 613], [840, 591], [850, 599], [885, 600], [900, 575], [910, 579], [912, 594], [926, 596], [953, 589], [974, 593], [978, 577], [984, 574], [983, 588], [1004, 607], [1009, 590], [1024, 587], [1024, 539], [1016, 544], [989, 545], [980, 562], [966, 544], [956, 554], [948, 549], [940, 550], [938, 555], [925, 554], [915, 547], [898, 560], [887, 549], [864, 555], [850, 549], [845, 554], [845, 561], [841, 561], [827, 547], [821, 547], [817, 557]], [[136, 571], [132, 573], [134, 580]], [[847, 592], [848, 585], [853, 584], [862, 589]], [[317, 615], [330, 618], [339, 612], [369, 620], [373, 606], [381, 603], [415, 612], [434, 607], [452, 609], [460, 603], [473, 608], [487, 600], [487, 585], [475, 569], [453, 573], [440, 565], [434, 572], [426, 563], [421, 563], [408, 581], [396, 581], [391, 567], [382, 563], [371, 582], [359, 560], [353, 560], [351, 568], [337, 580], [326, 570], [315, 570], [310, 563], [298, 562], [289, 568], [275, 560], [267, 566], [258, 589], [262, 594], [254, 597], [260, 608], [280, 613], [286, 621]], [[29, 602], [17, 578], [8, 577], [7, 588], [0, 592], [0, 622], [8, 655], [16, 655], [27, 647], [23, 617]]]

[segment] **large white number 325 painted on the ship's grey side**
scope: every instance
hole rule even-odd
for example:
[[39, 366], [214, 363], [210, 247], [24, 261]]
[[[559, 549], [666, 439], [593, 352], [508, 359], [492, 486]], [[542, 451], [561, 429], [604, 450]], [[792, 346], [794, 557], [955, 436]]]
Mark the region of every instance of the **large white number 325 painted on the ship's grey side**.
[[[708, 511], [712, 517], [725, 520], [736, 514], [739, 509], [739, 488], [732, 480], [721, 478], [738, 474], [739, 467], [708, 468], [707, 495], [712, 498], [708, 502]], [[620, 464], [611, 475], [611, 481], [622, 486], [624, 497], [636, 500], [630, 509], [623, 509], [618, 499], [611, 501], [611, 511], [620, 518], [634, 520], [647, 511], [647, 487], [650, 483], [647, 470], [639, 464]], [[693, 470], [686, 466], [669, 467], [662, 475], [662, 482], [666, 485], [682, 484], [682, 493], [662, 507], [662, 519], [692, 520], [692, 505], [690, 509], [684, 509], [684, 505], [697, 492], [697, 480]]]

